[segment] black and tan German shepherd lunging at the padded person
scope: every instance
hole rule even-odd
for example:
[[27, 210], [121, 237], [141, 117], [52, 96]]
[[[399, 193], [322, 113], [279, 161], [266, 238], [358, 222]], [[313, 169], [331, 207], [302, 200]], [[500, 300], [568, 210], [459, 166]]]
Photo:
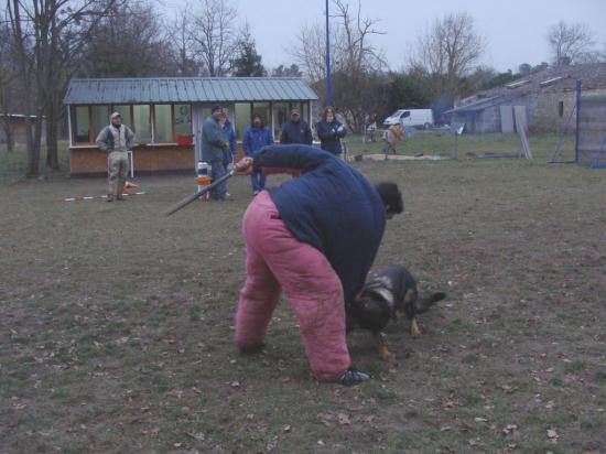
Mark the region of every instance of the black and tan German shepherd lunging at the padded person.
[[379, 357], [393, 361], [388, 349], [383, 329], [390, 320], [403, 312], [410, 320], [410, 334], [419, 336], [421, 329], [416, 315], [426, 312], [436, 302], [446, 298], [445, 293], [422, 293], [419, 295], [416, 281], [402, 264], [391, 264], [375, 274], [362, 288], [360, 294], [347, 311], [347, 331], [354, 327], [369, 329], [377, 342]]

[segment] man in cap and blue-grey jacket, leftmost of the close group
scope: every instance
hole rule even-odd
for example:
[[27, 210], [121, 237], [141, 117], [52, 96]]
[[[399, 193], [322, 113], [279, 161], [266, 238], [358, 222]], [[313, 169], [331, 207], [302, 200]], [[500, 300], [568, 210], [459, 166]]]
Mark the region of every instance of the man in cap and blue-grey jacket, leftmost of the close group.
[[[229, 151], [229, 141], [223, 131], [220, 119], [223, 107], [213, 106], [210, 117], [202, 125], [202, 160], [210, 164], [210, 179], [216, 181], [227, 173], [224, 156]], [[227, 184], [223, 182], [210, 191], [214, 201], [226, 201]]]

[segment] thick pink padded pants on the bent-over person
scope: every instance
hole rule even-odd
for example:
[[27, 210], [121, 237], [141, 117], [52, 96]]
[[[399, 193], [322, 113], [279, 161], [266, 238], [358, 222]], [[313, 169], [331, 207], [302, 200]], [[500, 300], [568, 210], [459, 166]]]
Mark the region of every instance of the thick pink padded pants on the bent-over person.
[[345, 338], [343, 287], [328, 260], [300, 242], [261, 192], [244, 218], [247, 280], [236, 314], [236, 344], [262, 344], [281, 289], [299, 317], [301, 337], [314, 376], [332, 381], [350, 364]]

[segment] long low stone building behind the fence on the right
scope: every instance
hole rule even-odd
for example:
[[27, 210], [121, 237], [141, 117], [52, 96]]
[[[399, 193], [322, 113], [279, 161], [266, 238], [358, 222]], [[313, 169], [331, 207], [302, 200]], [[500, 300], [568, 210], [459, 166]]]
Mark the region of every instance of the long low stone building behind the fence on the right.
[[516, 131], [513, 107], [524, 106], [531, 130], [559, 131], [574, 108], [577, 79], [584, 96], [606, 95], [606, 63], [550, 67], [462, 99], [445, 114], [469, 133], [507, 133]]

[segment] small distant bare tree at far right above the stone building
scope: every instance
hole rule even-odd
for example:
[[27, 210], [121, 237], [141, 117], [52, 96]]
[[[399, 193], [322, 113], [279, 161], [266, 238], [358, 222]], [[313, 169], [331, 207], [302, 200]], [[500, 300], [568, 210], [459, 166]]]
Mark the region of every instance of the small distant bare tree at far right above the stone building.
[[555, 65], [598, 60], [598, 53], [593, 50], [594, 33], [587, 24], [573, 23], [569, 25], [564, 21], [560, 21], [549, 29], [547, 37]]

